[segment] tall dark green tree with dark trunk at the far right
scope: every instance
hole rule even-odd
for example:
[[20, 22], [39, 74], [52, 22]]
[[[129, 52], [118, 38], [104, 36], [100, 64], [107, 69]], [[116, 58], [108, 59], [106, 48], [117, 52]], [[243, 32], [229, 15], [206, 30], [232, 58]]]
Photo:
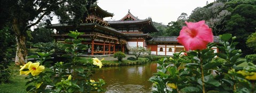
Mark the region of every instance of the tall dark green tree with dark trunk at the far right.
[[[238, 48], [242, 49], [243, 55], [253, 54], [253, 50], [245, 44], [249, 35], [255, 32], [256, 28], [256, 3], [240, 4], [235, 6], [230, 19], [225, 23], [228, 33], [237, 37]], [[231, 6], [230, 6], [231, 7]], [[233, 6], [234, 7], [234, 6]]]

